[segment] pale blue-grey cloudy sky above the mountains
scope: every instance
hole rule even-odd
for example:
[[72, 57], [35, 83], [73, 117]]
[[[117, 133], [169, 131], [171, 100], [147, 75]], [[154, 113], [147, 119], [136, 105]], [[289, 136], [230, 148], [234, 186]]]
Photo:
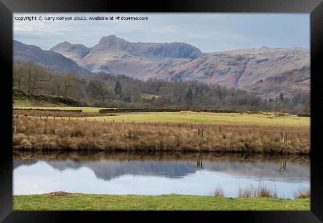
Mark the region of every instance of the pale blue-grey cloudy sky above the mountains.
[[[16, 17], [36, 16], [20, 21]], [[43, 19], [39, 20], [39, 16]], [[148, 20], [45, 20], [45, 17], [137, 16]], [[13, 39], [49, 50], [67, 41], [96, 45], [116, 35], [129, 42], [184, 42], [202, 52], [266, 47], [310, 48], [310, 13], [14, 13]]]

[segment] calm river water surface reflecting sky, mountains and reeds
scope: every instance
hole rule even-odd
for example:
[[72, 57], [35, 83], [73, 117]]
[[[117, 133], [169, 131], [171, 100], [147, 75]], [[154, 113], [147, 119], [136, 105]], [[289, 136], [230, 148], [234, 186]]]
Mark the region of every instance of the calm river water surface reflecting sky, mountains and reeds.
[[[308, 156], [19, 152], [13, 155], [13, 170], [15, 194], [50, 192], [53, 188], [46, 188], [44, 182], [51, 177], [55, 180], [53, 185], [64, 187], [55, 190], [116, 194], [207, 195], [220, 183], [236, 196], [239, 183], [265, 181], [276, 185], [277, 191], [281, 189], [284, 196], [292, 197], [293, 188], [310, 182]], [[86, 176], [91, 180], [85, 179]], [[75, 182], [83, 182], [84, 186], [76, 186]], [[26, 188], [28, 183], [34, 187]]]

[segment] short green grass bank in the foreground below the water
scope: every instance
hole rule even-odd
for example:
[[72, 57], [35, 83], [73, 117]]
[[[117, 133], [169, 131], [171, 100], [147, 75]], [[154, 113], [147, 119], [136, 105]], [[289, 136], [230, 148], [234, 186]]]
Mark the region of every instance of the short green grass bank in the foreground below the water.
[[310, 199], [224, 198], [197, 195], [13, 196], [13, 210], [310, 210]]

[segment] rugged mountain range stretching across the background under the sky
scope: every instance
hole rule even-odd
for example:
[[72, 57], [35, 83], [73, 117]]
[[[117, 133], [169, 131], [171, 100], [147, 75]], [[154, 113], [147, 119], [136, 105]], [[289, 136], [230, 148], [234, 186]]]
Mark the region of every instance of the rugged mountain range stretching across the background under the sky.
[[[310, 50], [253, 48], [203, 53], [187, 43], [131, 43], [110, 35], [93, 47], [62, 42], [43, 51], [14, 41], [14, 57], [56, 70], [107, 72], [147, 80], [198, 80], [238, 87], [263, 98], [310, 90]], [[42, 55], [42, 56], [37, 56]], [[68, 62], [68, 60], [70, 62]]]

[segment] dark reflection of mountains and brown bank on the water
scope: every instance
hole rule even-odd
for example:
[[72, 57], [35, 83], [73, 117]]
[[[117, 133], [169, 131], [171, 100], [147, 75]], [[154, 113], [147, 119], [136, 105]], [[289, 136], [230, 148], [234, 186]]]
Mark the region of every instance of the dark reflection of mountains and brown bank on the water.
[[15, 155], [13, 168], [21, 165], [33, 165], [45, 161], [53, 168], [91, 169], [95, 176], [103, 180], [111, 180], [123, 175], [160, 176], [181, 178], [197, 171], [216, 171], [234, 177], [247, 177], [259, 180], [280, 180], [298, 182], [310, 179], [310, 163], [305, 159], [294, 159], [286, 162], [286, 169], [281, 170], [281, 157], [248, 157], [210, 156], [210, 155], [138, 155], [138, 154], [104, 154], [101, 156], [40, 154], [28, 156]]

